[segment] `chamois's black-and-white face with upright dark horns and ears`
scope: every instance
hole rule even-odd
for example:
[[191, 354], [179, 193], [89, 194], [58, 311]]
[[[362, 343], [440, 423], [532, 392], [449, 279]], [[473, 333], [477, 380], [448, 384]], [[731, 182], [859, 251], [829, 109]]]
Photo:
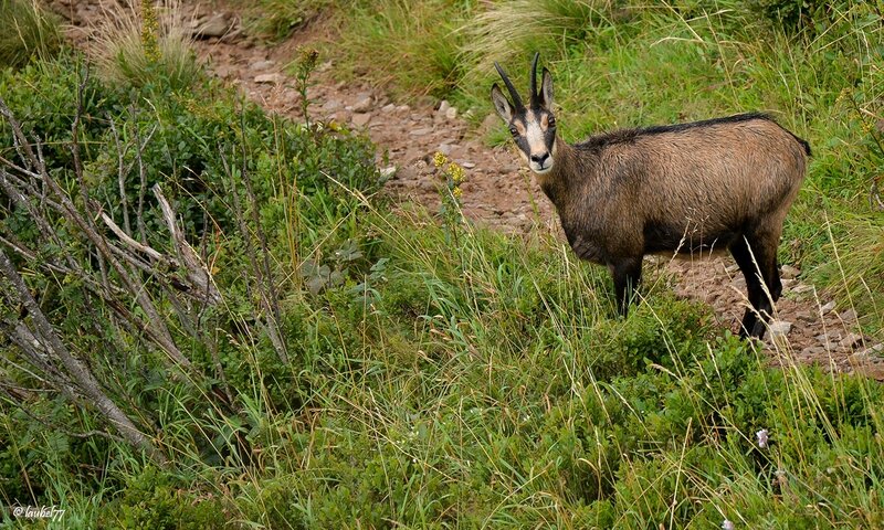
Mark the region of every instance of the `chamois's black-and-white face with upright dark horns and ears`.
[[504, 80], [513, 103], [509, 103], [504, 96], [497, 83], [491, 87], [491, 100], [494, 102], [497, 114], [509, 127], [509, 132], [528, 167], [535, 173], [543, 174], [552, 169], [555, 162], [556, 117], [552, 116], [552, 76], [546, 67], [544, 67], [540, 91], [537, 91], [537, 59], [539, 56], [539, 53], [535, 53], [532, 62], [532, 97], [528, 107], [522, 103], [516, 87], [506, 76], [504, 68], [496, 62], [494, 66]]

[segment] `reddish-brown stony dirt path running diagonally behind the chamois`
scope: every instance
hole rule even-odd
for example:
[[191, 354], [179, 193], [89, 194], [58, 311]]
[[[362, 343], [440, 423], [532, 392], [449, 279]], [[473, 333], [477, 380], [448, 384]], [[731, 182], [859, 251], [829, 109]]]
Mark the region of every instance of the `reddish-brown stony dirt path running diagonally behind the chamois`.
[[[71, 22], [71, 38], [84, 47], [95, 28], [116, 9], [115, 0], [51, 3]], [[193, 10], [188, 11], [187, 20], [199, 56], [214, 75], [239, 86], [269, 110], [303, 119], [286, 66], [297, 46], [323, 39], [325, 33], [307, 28], [286, 42], [265, 45], [245, 36], [239, 14], [222, 6], [215, 1], [188, 8]], [[482, 141], [488, 128], [498, 126], [496, 116], [485, 117], [475, 130], [461, 109], [446, 102], [401, 104], [366, 83], [336, 81], [334, 70], [334, 64], [326, 62], [315, 75], [308, 93], [315, 102], [309, 107], [312, 118], [365, 131], [380, 150], [382, 169], [394, 168], [386, 186], [397, 200], [438, 205], [440, 181], [431, 158], [442, 151], [466, 170], [462, 199], [470, 220], [516, 235], [530, 230], [560, 233], [554, 209], [520, 167], [518, 156], [511, 148], [490, 148]], [[650, 282], [665, 282], [680, 296], [709, 304], [723, 326], [737, 329], [746, 286], [729, 256], [695, 262], [649, 258], [645, 267]], [[831, 297], [802, 280], [794, 267], [783, 267], [782, 276], [783, 297], [764, 346], [772, 362], [819, 363], [884, 380], [884, 344], [862, 335], [855, 311], [836, 307]]]

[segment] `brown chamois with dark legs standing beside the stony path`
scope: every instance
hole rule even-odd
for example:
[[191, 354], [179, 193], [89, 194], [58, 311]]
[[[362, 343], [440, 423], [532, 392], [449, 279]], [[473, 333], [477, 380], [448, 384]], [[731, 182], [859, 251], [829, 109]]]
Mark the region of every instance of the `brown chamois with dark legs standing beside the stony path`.
[[569, 145], [556, 134], [546, 67], [537, 91], [538, 56], [528, 106], [496, 62], [512, 103], [496, 83], [491, 98], [556, 206], [571, 250], [608, 266], [620, 314], [629, 310], [645, 254], [726, 247], [751, 305], [740, 336], [764, 337], [771, 301], [782, 293], [777, 247], [804, 180], [808, 142], [753, 113], [603, 132]]

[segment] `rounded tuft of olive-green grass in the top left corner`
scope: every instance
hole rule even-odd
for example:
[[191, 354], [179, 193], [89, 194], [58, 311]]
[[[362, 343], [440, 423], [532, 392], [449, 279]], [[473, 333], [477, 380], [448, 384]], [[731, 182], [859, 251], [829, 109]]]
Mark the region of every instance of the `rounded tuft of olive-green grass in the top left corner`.
[[36, 0], [0, 2], [0, 67], [49, 59], [61, 47], [59, 20]]

